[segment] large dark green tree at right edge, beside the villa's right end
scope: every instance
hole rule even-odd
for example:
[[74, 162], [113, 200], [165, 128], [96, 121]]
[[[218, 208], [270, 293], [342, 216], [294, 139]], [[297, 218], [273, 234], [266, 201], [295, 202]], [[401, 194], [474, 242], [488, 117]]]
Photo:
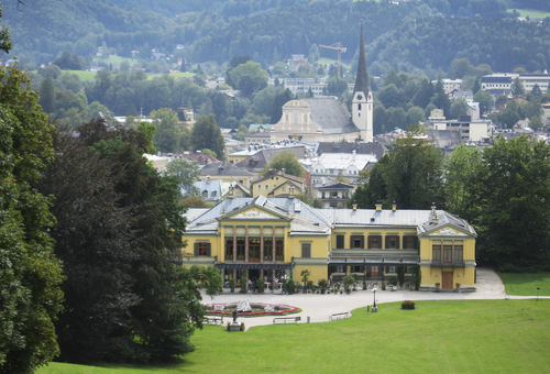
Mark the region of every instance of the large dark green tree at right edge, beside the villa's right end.
[[550, 145], [499, 138], [471, 184], [477, 257], [504, 271], [550, 268]]

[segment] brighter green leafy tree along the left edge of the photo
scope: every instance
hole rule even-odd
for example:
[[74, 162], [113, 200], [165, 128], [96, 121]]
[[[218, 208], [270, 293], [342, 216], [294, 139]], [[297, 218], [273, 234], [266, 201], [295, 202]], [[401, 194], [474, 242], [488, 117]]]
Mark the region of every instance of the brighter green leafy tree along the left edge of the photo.
[[[1, 10], [1, 7], [0, 7]], [[1, 15], [1, 14], [0, 14]], [[4, 30], [1, 30], [3, 33]], [[9, 51], [7, 34], [0, 47]], [[52, 199], [33, 184], [53, 158], [51, 125], [29, 79], [0, 66], [0, 372], [29, 373], [59, 354], [63, 273], [47, 229]]]

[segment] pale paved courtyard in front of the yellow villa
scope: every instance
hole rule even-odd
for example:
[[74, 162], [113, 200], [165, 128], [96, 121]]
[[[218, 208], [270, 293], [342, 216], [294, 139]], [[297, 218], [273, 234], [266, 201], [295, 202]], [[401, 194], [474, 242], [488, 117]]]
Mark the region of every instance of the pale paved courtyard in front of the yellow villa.
[[[504, 284], [498, 275], [490, 268], [477, 268], [477, 292], [476, 293], [431, 293], [431, 292], [410, 292], [410, 290], [377, 290], [376, 304], [383, 305], [384, 302], [403, 301], [403, 300], [469, 300], [469, 299], [504, 299], [506, 292]], [[204, 293], [204, 290], [202, 290]], [[516, 297], [510, 298], [529, 298]], [[266, 304], [286, 304], [298, 307], [301, 312], [292, 315], [300, 316], [301, 322], [306, 322], [308, 317], [310, 322], [328, 322], [329, 317], [333, 314], [351, 312], [353, 309], [372, 306], [374, 301], [374, 294], [372, 290], [353, 292], [350, 295], [317, 295], [317, 294], [295, 294], [282, 295], [280, 290], [272, 294], [267, 290], [263, 295], [258, 294], [239, 294], [237, 290], [231, 294], [229, 289], [224, 288], [223, 294], [210, 296], [202, 294], [202, 302], [237, 302], [239, 300], [249, 300], [249, 302], [266, 302]], [[378, 308], [383, 311], [383, 306]], [[272, 324], [273, 316], [268, 317], [253, 317], [241, 318], [246, 330], [254, 326]], [[224, 318], [231, 321], [231, 317]]]

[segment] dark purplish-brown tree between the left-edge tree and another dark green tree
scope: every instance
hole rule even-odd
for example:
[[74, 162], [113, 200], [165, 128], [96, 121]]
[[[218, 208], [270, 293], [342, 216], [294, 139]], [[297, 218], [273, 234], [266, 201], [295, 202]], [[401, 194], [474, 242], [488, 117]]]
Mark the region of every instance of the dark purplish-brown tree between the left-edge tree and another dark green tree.
[[[118, 146], [105, 150], [120, 150], [123, 142], [117, 140]], [[61, 360], [123, 359], [131, 307], [140, 304], [129, 272], [138, 258], [135, 217], [129, 207], [118, 207], [116, 186], [121, 174], [113, 175], [110, 161], [100, 158], [100, 153], [89, 156], [86, 145], [69, 131], [56, 131], [54, 146], [55, 161], [38, 189], [55, 196], [52, 212], [57, 224], [51, 234], [67, 277], [62, 287], [64, 310], [56, 323]]]

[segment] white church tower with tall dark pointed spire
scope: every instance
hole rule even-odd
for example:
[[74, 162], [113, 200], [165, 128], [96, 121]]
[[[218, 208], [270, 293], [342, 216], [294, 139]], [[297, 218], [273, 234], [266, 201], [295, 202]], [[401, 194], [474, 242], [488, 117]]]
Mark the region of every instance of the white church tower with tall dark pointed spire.
[[355, 88], [353, 89], [352, 116], [353, 123], [361, 132], [361, 141], [366, 143], [373, 141], [373, 105], [371, 80], [366, 70], [363, 22], [361, 22], [361, 45], [359, 46], [358, 76], [355, 78]]

